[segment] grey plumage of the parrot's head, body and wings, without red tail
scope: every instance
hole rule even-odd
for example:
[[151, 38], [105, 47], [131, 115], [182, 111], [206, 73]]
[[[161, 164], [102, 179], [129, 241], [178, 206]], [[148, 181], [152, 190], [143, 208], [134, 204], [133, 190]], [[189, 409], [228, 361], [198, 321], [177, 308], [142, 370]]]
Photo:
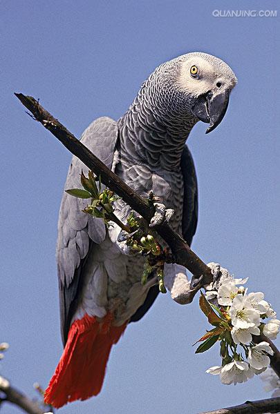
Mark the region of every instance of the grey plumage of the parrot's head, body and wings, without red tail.
[[[193, 64], [198, 64], [203, 75], [199, 81], [189, 73]], [[143, 197], [152, 190], [161, 203], [175, 210], [170, 224], [188, 244], [196, 231], [198, 195], [194, 162], [185, 141], [199, 119], [217, 119], [218, 125], [225, 115], [225, 98], [228, 102], [235, 83], [234, 73], [220, 59], [196, 52], [180, 56], [162, 63], [142, 83], [118, 124], [109, 118], [98, 119], [82, 136], [84, 144], [109, 168], [115, 168], [133, 190]], [[205, 99], [216, 102], [216, 106], [210, 106], [219, 111], [216, 118], [211, 111], [208, 117]], [[66, 188], [80, 187], [82, 168], [86, 170], [74, 157]], [[93, 315], [104, 315], [114, 308], [115, 324], [140, 319], [158, 295], [157, 286], [149, 292], [142, 290], [142, 258], [125, 256], [117, 242], [120, 229], [114, 226], [105, 239], [103, 222], [81, 213], [84, 205], [84, 201], [64, 195], [59, 217], [57, 261], [64, 340], [77, 308], [78, 293], [87, 301], [86, 308], [79, 304], [79, 315], [87, 309]], [[122, 221], [130, 211], [122, 200], [115, 202], [115, 214]], [[100, 295], [96, 283], [102, 286]], [[116, 299], [121, 302], [117, 308]]]

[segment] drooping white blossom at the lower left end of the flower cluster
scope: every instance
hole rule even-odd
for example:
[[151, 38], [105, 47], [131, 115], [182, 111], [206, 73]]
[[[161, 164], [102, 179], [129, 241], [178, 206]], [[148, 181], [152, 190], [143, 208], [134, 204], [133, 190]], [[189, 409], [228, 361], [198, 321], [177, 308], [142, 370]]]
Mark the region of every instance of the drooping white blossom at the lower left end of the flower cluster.
[[221, 382], [226, 385], [234, 384], [237, 382], [246, 382], [251, 377], [249, 366], [247, 362], [232, 361], [230, 364], [223, 366], [221, 370]]

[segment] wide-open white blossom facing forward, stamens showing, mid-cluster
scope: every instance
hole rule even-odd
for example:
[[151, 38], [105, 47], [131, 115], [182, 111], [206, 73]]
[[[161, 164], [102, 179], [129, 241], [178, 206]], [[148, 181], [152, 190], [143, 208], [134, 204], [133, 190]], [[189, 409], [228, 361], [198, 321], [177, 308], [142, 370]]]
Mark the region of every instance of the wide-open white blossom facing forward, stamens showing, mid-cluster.
[[247, 295], [239, 293], [234, 297], [230, 308], [232, 325], [236, 328], [246, 329], [261, 324], [260, 314], [248, 303]]

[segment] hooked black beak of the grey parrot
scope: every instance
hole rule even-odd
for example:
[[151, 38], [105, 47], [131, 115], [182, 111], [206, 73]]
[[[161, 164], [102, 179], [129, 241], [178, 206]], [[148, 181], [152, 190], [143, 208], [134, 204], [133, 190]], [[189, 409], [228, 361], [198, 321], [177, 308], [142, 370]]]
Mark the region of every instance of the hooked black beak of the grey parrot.
[[209, 124], [205, 132], [206, 134], [214, 130], [223, 120], [229, 99], [230, 92], [225, 89], [215, 95], [212, 92], [208, 92], [196, 100], [196, 103], [192, 107], [192, 113], [200, 121]]

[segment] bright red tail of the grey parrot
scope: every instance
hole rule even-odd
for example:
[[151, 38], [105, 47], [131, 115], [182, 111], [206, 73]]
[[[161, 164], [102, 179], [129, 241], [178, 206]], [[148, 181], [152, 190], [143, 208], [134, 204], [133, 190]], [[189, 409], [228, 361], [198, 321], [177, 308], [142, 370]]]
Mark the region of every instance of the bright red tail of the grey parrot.
[[108, 313], [101, 322], [84, 315], [71, 325], [55, 374], [45, 392], [45, 404], [59, 408], [67, 402], [86, 400], [100, 393], [111, 347], [127, 324], [112, 326]]

